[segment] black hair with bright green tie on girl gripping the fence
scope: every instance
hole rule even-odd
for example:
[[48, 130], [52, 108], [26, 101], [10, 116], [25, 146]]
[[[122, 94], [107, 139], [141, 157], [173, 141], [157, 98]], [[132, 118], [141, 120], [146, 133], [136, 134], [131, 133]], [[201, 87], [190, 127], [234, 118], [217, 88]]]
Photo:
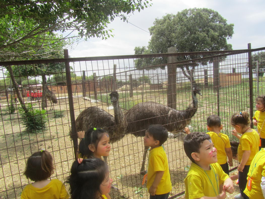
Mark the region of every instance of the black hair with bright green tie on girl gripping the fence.
[[102, 128], [90, 128], [85, 132], [85, 137], [80, 141], [79, 144], [79, 153], [82, 155], [82, 157], [93, 157], [93, 152], [88, 148], [88, 146], [92, 144], [95, 146], [95, 148], [97, 148], [100, 139], [105, 133], [108, 132]]

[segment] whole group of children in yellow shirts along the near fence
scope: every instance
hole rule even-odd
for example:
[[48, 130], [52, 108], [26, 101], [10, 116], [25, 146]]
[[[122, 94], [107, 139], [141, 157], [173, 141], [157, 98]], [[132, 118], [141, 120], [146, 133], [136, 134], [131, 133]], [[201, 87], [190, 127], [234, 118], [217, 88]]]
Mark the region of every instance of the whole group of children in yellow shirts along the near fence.
[[[184, 150], [192, 162], [184, 180], [186, 199], [226, 198], [226, 192], [233, 193], [231, 178], [235, 180], [237, 176], [229, 178], [228, 168], [228, 164], [233, 166], [233, 158], [240, 162], [240, 194], [235, 198], [265, 198], [265, 96], [256, 99], [256, 107], [253, 124], [257, 126], [259, 134], [250, 128], [247, 112], [241, 111], [231, 118], [234, 127], [232, 134], [239, 139], [239, 143], [229, 142], [228, 136], [220, 132], [222, 125], [217, 115], [207, 118], [208, 133], [191, 133], [185, 128], [187, 136], [183, 141]], [[109, 134], [101, 128], [90, 128], [86, 132], [77, 132], [77, 135], [80, 138], [76, 154], [78, 159], [74, 161], [66, 180], [70, 185], [70, 196], [73, 199], [109, 199], [112, 179], [109, 177], [108, 165], [101, 160], [111, 150]], [[144, 146], [150, 147], [146, 187], [151, 199], [166, 199], [172, 189], [167, 156], [162, 146], [167, 137], [167, 129], [155, 124], [146, 129], [143, 139]], [[48, 179], [53, 170], [50, 153], [41, 150], [32, 154], [24, 174], [35, 182], [23, 189], [21, 198], [69, 198], [60, 180]]]

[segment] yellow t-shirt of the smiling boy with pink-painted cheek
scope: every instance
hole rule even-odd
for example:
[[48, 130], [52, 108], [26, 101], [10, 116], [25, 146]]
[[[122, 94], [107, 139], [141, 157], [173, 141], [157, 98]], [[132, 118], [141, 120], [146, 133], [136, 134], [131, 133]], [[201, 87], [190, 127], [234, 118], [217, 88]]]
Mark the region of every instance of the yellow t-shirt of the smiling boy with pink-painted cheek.
[[[229, 176], [218, 163], [210, 164], [211, 170], [204, 170], [195, 163], [191, 163], [185, 178], [185, 198], [193, 199], [203, 196], [214, 197], [219, 194], [219, 185]], [[215, 177], [216, 176], [216, 177]]]

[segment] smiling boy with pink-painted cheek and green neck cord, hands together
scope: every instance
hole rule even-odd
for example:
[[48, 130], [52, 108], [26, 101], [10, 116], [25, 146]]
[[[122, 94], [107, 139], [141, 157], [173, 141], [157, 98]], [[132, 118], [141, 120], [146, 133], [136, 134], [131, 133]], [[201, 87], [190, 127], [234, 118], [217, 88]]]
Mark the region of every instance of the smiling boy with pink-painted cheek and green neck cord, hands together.
[[[185, 178], [185, 198], [226, 198], [233, 193], [233, 182], [217, 163], [217, 152], [208, 134], [193, 132], [183, 141], [184, 150], [192, 161]], [[219, 190], [223, 184], [223, 189]]]

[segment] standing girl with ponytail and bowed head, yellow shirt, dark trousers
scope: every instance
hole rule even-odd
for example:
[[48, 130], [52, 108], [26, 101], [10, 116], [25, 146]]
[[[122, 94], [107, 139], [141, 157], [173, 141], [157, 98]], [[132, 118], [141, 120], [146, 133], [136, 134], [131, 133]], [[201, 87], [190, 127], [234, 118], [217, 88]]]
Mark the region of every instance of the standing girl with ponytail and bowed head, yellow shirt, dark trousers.
[[[250, 128], [250, 116], [247, 112], [241, 111], [240, 113], [233, 114], [231, 117], [231, 125], [235, 128], [232, 134], [239, 139], [237, 149], [238, 161], [238, 186], [240, 194], [234, 198], [246, 198], [244, 190], [247, 184], [247, 174], [249, 172], [250, 163], [256, 153], [259, 151], [259, 135], [257, 131]], [[242, 134], [241, 136], [238, 133]]]

